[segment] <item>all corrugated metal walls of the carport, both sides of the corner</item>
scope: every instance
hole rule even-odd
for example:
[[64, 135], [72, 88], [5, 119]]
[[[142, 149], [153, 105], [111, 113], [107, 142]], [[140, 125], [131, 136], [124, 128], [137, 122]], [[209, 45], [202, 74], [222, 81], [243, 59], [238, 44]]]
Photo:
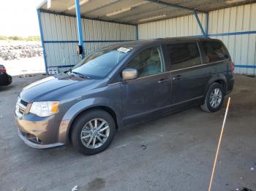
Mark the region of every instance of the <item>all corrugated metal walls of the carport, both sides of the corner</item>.
[[[80, 58], [76, 55], [78, 34], [75, 17], [41, 12], [45, 55], [49, 67], [67, 70]], [[206, 15], [198, 14], [202, 26]], [[238, 74], [256, 74], [256, 4], [209, 12], [208, 34], [225, 42]], [[136, 39], [136, 26], [82, 19], [86, 54], [113, 41]], [[194, 15], [138, 25], [139, 39], [200, 36]], [[67, 67], [65, 67], [67, 66]]]

